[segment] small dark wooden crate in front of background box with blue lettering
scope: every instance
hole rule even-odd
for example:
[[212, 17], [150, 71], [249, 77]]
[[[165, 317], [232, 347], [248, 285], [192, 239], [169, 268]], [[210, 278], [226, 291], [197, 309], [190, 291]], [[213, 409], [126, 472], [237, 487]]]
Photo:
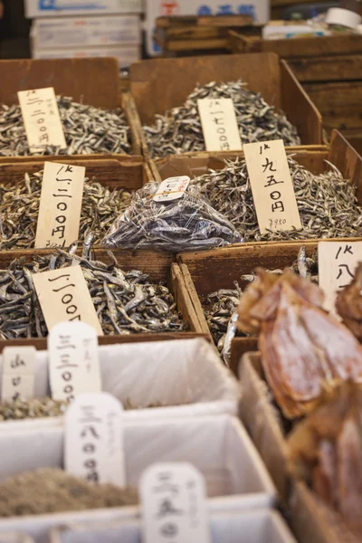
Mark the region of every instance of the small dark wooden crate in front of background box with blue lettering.
[[252, 25], [250, 15], [157, 17], [154, 41], [164, 56], [227, 50], [228, 30], [245, 25]]

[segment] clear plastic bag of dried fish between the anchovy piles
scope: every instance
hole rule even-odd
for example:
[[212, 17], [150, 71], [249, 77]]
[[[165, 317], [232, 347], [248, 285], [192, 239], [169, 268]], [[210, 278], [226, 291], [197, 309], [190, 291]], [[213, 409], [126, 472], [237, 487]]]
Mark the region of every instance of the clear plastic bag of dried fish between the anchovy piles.
[[111, 226], [103, 244], [186, 252], [243, 242], [233, 224], [195, 186], [188, 186], [181, 198], [167, 203], [154, 200], [158, 186], [148, 183], [132, 196], [129, 209]]

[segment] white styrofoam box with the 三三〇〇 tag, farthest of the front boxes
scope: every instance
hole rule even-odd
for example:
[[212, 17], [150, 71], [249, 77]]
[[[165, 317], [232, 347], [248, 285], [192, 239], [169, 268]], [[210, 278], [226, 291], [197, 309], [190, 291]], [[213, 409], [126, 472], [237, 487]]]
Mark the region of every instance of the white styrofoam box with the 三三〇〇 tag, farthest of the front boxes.
[[[99, 347], [102, 390], [130, 403], [127, 420], [197, 414], [237, 414], [239, 385], [203, 338]], [[0, 357], [0, 390], [3, 357]], [[35, 397], [51, 395], [48, 352], [37, 351]], [[144, 408], [147, 405], [167, 407]], [[62, 417], [5, 421], [0, 431], [62, 425]]]

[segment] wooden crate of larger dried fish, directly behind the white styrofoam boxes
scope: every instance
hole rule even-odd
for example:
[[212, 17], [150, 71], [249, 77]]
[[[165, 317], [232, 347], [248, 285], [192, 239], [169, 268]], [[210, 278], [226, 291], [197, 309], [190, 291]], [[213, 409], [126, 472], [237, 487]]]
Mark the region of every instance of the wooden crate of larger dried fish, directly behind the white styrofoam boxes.
[[[49, 254], [51, 251], [45, 249], [24, 250], [24, 251], [1, 251], [0, 252], [0, 270], [7, 269], [8, 265], [14, 259], [24, 257], [25, 263], [31, 262], [34, 254]], [[100, 345], [110, 343], [129, 343], [137, 341], [153, 341], [167, 340], [176, 338], [195, 338], [205, 337], [201, 326], [195, 314], [195, 303], [190, 299], [190, 295], [186, 289], [184, 277], [175, 262], [174, 255], [167, 252], [150, 252], [150, 251], [122, 251], [119, 249], [112, 250], [113, 254], [119, 262], [119, 267], [122, 271], [140, 270], [148, 273], [150, 281], [167, 281], [167, 286], [174, 295], [177, 310], [182, 314], [189, 331], [173, 332], [173, 333], [141, 333], [130, 335], [112, 335], [100, 337]], [[109, 250], [95, 248], [92, 252], [92, 258], [100, 262], [112, 263]], [[36, 348], [46, 348], [46, 339], [44, 338], [29, 338], [15, 340], [0, 340], [0, 352], [4, 347], [10, 345], [33, 345]]]

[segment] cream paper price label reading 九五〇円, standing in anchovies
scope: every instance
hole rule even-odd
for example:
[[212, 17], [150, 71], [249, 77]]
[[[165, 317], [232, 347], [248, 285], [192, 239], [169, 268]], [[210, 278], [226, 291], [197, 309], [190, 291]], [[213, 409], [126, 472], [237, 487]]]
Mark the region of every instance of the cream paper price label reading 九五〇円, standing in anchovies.
[[243, 152], [261, 233], [301, 229], [282, 139], [247, 143]]

